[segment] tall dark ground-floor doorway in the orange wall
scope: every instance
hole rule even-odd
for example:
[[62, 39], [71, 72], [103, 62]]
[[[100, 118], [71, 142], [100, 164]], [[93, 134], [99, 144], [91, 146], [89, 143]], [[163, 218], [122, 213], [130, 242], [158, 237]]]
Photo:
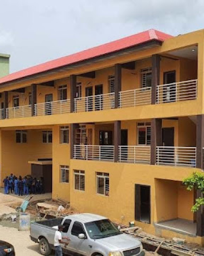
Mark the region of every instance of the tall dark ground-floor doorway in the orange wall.
[[150, 223], [151, 201], [150, 186], [135, 185], [135, 219]]

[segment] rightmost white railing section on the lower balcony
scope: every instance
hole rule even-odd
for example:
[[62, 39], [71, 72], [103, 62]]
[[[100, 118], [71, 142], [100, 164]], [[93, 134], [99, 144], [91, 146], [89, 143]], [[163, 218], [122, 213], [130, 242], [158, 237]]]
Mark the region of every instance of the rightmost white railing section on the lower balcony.
[[157, 165], [196, 166], [196, 147], [157, 146]]

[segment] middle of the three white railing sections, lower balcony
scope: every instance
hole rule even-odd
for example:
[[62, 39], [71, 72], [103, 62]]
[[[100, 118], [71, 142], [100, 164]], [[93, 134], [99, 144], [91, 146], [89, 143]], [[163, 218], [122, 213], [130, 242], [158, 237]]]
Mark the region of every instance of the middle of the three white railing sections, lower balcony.
[[150, 146], [119, 146], [119, 162], [150, 164]]

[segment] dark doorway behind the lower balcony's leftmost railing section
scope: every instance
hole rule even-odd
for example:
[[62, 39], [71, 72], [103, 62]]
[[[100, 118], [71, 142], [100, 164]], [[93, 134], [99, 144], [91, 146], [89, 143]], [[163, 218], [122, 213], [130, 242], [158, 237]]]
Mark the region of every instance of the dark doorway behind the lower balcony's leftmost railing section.
[[110, 156], [113, 155], [113, 148], [110, 147], [113, 145], [113, 132], [112, 131], [100, 131], [99, 132], [99, 143], [100, 148], [100, 158], [101, 159], [110, 159]]

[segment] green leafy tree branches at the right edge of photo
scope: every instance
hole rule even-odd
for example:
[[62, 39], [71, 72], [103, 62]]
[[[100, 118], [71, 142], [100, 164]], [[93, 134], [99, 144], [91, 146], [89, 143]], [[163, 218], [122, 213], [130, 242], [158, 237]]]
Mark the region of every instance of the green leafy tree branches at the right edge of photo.
[[197, 211], [201, 205], [204, 205], [204, 174], [202, 173], [193, 173], [188, 178], [186, 178], [183, 183], [187, 186], [188, 190], [200, 189], [201, 197], [196, 198], [195, 204], [192, 206], [191, 210], [193, 212]]

